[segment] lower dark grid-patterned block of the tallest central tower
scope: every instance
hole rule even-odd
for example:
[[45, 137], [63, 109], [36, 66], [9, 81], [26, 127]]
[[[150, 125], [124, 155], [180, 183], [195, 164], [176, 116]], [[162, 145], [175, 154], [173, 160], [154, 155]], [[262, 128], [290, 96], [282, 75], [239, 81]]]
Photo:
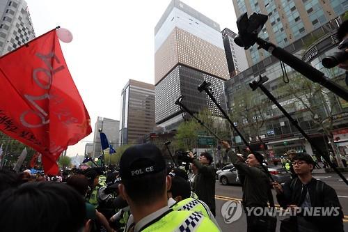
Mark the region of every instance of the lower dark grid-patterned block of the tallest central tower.
[[[185, 65], [177, 65], [175, 69], [156, 86], [156, 123], [161, 124], [169, 118], [180, 114], [180, 107], [175, 105], [175, 100], [184, 95], [182, 103], [192, 112], [199, 112], [208, 108], [215, 116], [221, 116], [209, 96], [197, 89], [203, 81], [210, 82], [214, 91], [214, 98], [221, 105], [224, 98], [223, 79], [207, 75], [199, 70], [194, 70]], [[226, 109], [224, 105], [221, 105]]]

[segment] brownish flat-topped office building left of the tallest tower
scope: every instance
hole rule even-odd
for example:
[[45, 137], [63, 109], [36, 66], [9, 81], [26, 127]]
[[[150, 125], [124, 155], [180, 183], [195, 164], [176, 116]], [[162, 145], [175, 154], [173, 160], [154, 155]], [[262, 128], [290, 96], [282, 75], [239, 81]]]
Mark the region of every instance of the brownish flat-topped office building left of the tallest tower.
[[134, 144], [155, 127], [155, 86], [129, 79], [122, 89], [119, 143]]

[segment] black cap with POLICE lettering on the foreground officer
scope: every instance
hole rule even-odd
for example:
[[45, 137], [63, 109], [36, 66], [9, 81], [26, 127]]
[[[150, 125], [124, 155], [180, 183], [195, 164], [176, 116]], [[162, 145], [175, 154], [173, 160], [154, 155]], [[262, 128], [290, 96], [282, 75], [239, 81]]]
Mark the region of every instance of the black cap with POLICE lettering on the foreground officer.
[[129, 180], [158, 173], [166, 169], [161, 150], [153, 144], [141, 144], [127, 148], [120, 160], [120, 176]]

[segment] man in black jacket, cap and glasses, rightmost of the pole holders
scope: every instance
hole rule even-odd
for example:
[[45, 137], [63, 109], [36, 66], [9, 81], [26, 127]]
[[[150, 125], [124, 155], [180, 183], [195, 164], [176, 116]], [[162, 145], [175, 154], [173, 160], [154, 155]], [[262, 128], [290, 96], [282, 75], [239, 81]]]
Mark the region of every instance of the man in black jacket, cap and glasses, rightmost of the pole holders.
[[[293, 231], [343, 231], [338, 196], [332, 187], [313, 178], [312, 157], [306, 153], [296, 154], [292, 165], [297, 177], [285, 183], [284, 187], [278, 183], [273, 183], [273, 186], [280, 206], [289, 208], [296, 215], [291, 217], [289, 224], [294, 225]], [[327, 215], [328, 212], [331, 215]]]

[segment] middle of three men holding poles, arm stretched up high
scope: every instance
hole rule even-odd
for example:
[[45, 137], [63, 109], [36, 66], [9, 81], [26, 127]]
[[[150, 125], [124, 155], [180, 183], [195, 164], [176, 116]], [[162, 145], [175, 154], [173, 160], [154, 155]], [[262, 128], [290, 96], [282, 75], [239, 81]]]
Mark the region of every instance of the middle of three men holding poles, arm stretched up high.
[[[243, 185], [243, 199], [242, 203], [244, 210], [252, 207], [267, 208], [267, 201], [269, 200], [270, 181], [266, 171], [262, 168], [262, 164], [256, 159], [254, 154], [249, 154], [248, 158], [244, 160], [230, 149], [230, 144], [227, 141], [221, 141], [221, 144], [227, 150], [227, 155], [232, 160], [239, 173], [244, 175]], [[260, 154], [258, 154], [260, 155]], [[262, 158], [262, 155], [260, 155]], [[251, 212], [246, 210], [246, 212]], [[256, 217], [251, 212], [246, 215], [247, 231], [267, 231], [267, 219]]]

